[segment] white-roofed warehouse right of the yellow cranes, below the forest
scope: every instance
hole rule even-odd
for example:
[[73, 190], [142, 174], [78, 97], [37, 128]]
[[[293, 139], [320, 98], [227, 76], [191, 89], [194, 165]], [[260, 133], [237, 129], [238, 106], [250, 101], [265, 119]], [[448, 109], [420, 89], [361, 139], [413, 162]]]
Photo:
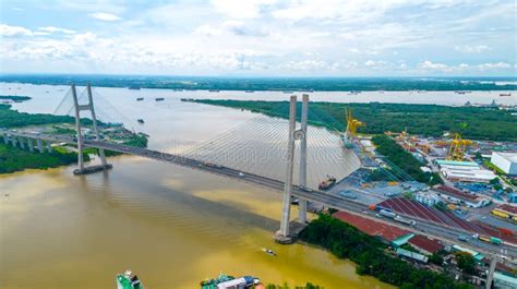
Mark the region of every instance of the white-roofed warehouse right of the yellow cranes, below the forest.
[[490, 182], [497, 176], [473, 161], [436, 160], [442, 174], [450, 181]]

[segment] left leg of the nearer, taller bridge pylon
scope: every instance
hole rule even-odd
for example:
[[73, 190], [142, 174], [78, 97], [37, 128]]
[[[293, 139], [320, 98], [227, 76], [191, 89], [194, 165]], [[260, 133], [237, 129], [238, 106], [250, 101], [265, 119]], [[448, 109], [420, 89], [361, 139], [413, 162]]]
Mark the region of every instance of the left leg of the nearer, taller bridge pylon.
[[[289, 242], [289, 219], [291, 214], [292, 169], [294, 160], [294, 129], [297, 125], [297, 96], [291, 96], [289, 105], [289, 139], [287, 148], [286, 181], [284, 183], [284, 205], [280, 220], [280, 231], [277, 241]], [[281, 238], [285, 239], [280, 240]]]

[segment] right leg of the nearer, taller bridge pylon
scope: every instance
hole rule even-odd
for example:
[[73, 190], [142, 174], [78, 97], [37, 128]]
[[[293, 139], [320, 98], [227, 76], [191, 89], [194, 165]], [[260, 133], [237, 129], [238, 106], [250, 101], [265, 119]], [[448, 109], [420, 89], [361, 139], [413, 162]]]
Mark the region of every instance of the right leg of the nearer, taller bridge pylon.
[[[309, 119], [309, 95], [302, 96], [302, 111], [301, 111], [301, 128], [303, 132], [300, 140], [300, 188], [306, 186], [306, 128]], [[300, 222], [306, 221], [306, 200], [301, 200], [298, 203], [298, 219]]]

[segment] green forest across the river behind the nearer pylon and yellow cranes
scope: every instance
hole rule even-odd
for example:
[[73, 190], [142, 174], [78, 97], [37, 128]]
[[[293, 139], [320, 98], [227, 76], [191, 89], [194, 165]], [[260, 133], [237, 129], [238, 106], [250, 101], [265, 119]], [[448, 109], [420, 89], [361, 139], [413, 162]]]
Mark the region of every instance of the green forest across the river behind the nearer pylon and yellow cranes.
[[[287, 119], [288, 101], [181, 99], [182, 101], [229, 107]], [[362, 134], [383, 134], [386, 131], [442, 136], [445, 132], [460, 133], [469, 140], [517, 142], [517, 117], [510, 111], [490, 107], [449, 107], [408, 104], [345, 104], [311, 103], [309, 122], [329, 130], [344, 130], [345, 108], [365, 123], [358, 129]], [[301, 108], [298, 108], [300, 115]]]

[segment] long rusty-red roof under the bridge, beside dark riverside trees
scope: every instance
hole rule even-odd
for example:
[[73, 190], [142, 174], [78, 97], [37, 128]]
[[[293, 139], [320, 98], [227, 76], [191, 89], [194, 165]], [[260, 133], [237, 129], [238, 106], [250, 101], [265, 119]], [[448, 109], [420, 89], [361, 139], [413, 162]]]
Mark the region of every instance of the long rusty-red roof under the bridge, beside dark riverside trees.
[[369, 218], [364, 218], [358, 215], [353, 215], [347, 212], [334, 213], [333, 217], [338, 218], [345, 222], [348, 222], [351, 226], [358, 228], [359, 230], [370, 236], [373, 236], [373, 237], [378, 236], [384, 241], [387, 241], [387, 242], [390, 242], [400, 236], [405, 236], [409, 233], [409, 231], [402, 230], [400, 228], [389, 226], [381, 221], [375, 221]]

